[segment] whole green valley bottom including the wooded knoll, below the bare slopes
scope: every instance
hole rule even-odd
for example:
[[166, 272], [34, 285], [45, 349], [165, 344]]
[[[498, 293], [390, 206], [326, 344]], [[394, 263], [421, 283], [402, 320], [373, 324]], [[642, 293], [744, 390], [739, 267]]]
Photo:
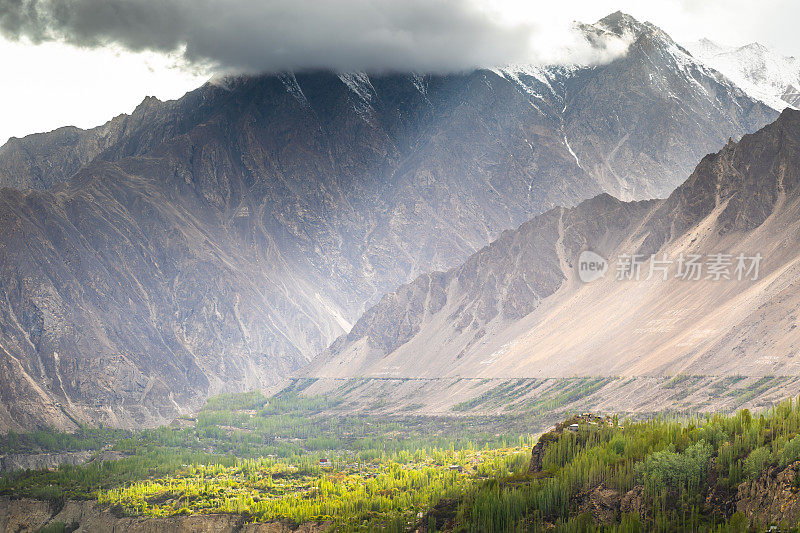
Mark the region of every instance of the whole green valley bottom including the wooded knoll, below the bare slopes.
[[630, 417], [568, 414], [631, 386], [618, 379], [466, 380], [478, 393], [436, 416], [400, 414], [414, 406], [393, 409], [374, 381], [219, 396], [157, 429], [12, 432], [0, 530], [747, 531], [800, 517], [800, 404], [725, 417], [686, 400], [746, 404], [786, 378], [679, 376], [655, 388], [684, 412]]

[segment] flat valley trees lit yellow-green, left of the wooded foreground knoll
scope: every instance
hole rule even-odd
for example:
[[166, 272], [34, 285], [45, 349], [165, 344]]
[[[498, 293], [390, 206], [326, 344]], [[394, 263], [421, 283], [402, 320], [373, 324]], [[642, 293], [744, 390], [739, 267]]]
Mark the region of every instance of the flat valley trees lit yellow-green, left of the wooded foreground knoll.
[[133, 516], [235, 513], [255, 521], [330, 519], [346, 530], [404, 528], [441, 498], [527, 468], [533, 439], [522, 420], [332, 416], [341, 397], [302, 396], [297, 388], [269, 398], [217, 396], [169, 427], [11, 434], [10, 452], [125, 457], [8, 473], [0, 494], [97, 500]]

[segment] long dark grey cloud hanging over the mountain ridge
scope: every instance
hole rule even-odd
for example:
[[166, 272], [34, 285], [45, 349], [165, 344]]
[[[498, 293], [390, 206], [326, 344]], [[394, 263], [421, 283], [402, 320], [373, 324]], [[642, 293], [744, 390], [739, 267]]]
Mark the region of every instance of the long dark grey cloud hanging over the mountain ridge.
[[0, 32], [180, 50], [228, 71], [453, 71], [546, 59], [531, 45], [535, 28], [465, 0], [0, 0]]

